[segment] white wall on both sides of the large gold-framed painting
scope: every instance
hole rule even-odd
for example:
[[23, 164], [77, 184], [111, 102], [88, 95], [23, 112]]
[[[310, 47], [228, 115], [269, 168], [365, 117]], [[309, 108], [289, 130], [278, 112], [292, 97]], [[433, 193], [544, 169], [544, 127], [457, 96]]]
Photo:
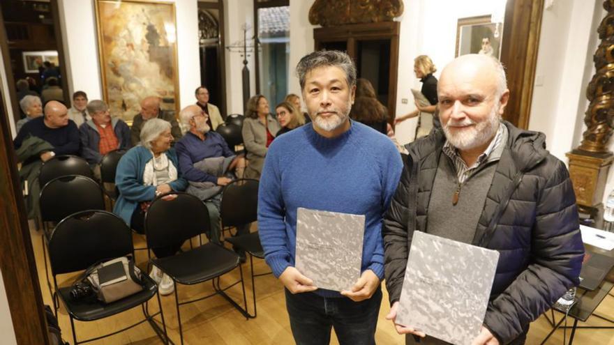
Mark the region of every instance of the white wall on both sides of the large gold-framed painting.
[[[175, 3], [179, 105], [195, 102], [200, 85], [197, 0], [168, 0]], [[90, 100], [102, 98], [96, 12], [93, 1], [59, 0], [61, 30], [66, 52], [68, 91], [85, 91]]]

